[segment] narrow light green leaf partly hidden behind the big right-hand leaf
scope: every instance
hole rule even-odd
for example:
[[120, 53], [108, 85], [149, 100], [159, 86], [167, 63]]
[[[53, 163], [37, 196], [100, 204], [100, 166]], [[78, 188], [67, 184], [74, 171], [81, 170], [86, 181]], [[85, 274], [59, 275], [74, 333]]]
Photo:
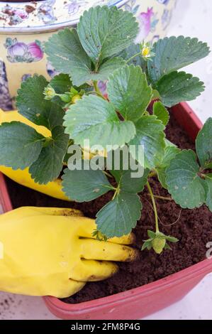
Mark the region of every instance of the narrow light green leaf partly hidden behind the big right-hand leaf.
[[176, 146], [167, 146], [165, 149], [164, 157], [162, 158], [162, 161], [160, 163], [160, 166], [156, 167], [158, 179], [162, 184], [162, 187], [165, 189], [167, 189], [166, 169], [170, 165], [171, 161], [177, 156], [177, 153], [179, 152], [180, 149], [178, 149]]

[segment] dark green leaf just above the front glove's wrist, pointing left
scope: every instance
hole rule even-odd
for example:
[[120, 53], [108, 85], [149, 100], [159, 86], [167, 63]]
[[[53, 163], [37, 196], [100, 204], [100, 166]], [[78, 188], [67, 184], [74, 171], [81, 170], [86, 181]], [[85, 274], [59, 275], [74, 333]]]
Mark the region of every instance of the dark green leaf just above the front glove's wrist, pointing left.
[[65, 194], [77, 202], [89, 202], [113, 189], [103, 171], [70, 171], [65, 169], [62, 176]]

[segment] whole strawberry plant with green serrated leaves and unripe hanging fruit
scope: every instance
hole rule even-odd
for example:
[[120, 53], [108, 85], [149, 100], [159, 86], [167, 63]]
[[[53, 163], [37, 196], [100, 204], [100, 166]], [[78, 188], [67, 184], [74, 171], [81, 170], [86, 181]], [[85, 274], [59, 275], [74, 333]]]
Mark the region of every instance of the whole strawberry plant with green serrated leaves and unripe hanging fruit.
[[[138, 194], [147, 186], [156, 227], [143, 249], [160, 254], [177, 239], [160, 232], [152, 176], [182, 208], [206, 204], [212, 211], [212, 119], [196, 139], [196, 153], [181, 151], [164, 132], [167, 107], [203, 92], [203, 82], [181, 69], [206, 57], [209, 49], [183, 36], [137, 45], [137, 34], [133, 14], [115, 6], [92, 8], [76, 29], [55, 33], [45, 53], [60, 74], [50, 82], [38, 75], [28, 78], [16, 100], [18, 112], [48, 128], [51, 136], [21, 122], [2, 124], [0, 164], [14, 170], [28, 167], [40, 184], [61, 177], [65, 194], [81, 203], [113, 192], [96, 214], [94, 235], [99, 239], [121, 237], [135, 227], [143, 208]], [[106, 96], [100, 81], [107, 82]], [[133, 167], [125, 168], [124, 160], [133, 161]]]

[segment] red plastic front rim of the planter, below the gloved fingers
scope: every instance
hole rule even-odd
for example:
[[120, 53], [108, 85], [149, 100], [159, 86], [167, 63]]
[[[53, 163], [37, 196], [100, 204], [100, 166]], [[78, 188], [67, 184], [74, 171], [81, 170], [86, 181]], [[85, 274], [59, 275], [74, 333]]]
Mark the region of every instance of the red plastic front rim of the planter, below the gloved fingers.
[[135, 289], [130, 289], [121, 293], [116, 293], [111, 296], [106, 296], [103, 298], [93, 299], [92, 301], [85, 301], [82, 303], [69, 304], [61, 301], [60, 299], [52, 296], [44, 296], [43, 299], [49, 305], [59, 308], [61, 311], [69, 311], [76, 313], [81, 313], [82, 308], [84, 311], [91, 311], [93, 308], [97, 308], [99, 306], [109, 306], [110, 304], [122, 303], [123, 300], [127, 303], [131, 298], [135, 298], [136, 296], [150, 296], [152, 294], [157, 293], [157, 291], [161, 291], [162, 288], [171, 286], [174, 284], [180, 284], [184, 281], [187, 281], [191, 276], [199, 275], [201, 273], [205, 273], [208, 271], [210, 273], [212, 269], [212, 259], [205, 259], [198, 264], [194, 264], [193, 266], [189, 266], [186, 269], [178, 271], [175, 274], [164, 277], [163, 279], [159, 279], [149, 284], [145, 284], [143, 286], [139, 286]]

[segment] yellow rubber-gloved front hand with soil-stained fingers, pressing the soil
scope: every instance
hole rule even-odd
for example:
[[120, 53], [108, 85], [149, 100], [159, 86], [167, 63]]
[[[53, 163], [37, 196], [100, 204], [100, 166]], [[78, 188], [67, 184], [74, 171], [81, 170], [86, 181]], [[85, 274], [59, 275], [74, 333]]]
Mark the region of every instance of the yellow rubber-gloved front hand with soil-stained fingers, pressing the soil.
[[94, 220], [72, 209], [18, 208], [0, 216], [0, 291], [65, 298], [87, 281], [107, 279], [114, 261], [130, 262], [133, 235], [102, 242]]

